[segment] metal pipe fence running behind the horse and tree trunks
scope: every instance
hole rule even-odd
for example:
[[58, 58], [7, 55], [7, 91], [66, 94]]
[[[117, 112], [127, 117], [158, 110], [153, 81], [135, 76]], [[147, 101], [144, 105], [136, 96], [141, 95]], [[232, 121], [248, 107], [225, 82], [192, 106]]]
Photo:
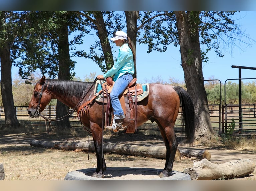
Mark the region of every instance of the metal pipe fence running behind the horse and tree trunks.
[[[242, 105], [243, 120], [242, 125], [239, 121], [239, 105], [220, 105], [211, 104], [209, 107], [209, 115], [211, 118], [212, 127], [215, 132], [220, 135], [227, 133], [227, 129], [232, 123], [232, 119], [235, 122], [234, 135], [256, 135], [256, 106], [255, 104]], [[70, 109], [72, 110], [72, 109]], [[16, 116], [19, 121], [23, 121], [29, 124], [35, 125], [45, 125], [45, 121], [42, 117], [31, 118], [29, 117], [27, 111], [28, 107], [25, 106], [15, 106]], [[42, 114], [48, 118], [56, 118], [56, 106], [48, 105], [42, 112]], [[182, 131], [181, 129], [181, 108], [178, 115], [177, 121], [175, 123], [175, 131]], [[70, 122], [73, 127], [82, 127], [79, 119], [77, 118], [77, 113], [74, 112], [70, 117]], [[0, 107], [0, 122], [5, 120], [4, 108]], [[52, 122], [54, 125], [54, 122]], [[242, 128], [241, 128], [242, 126]], [[156, 123], [146, 122], [142, 126], [138, 127], [138, 130], [152, 130], [158, 131]]]

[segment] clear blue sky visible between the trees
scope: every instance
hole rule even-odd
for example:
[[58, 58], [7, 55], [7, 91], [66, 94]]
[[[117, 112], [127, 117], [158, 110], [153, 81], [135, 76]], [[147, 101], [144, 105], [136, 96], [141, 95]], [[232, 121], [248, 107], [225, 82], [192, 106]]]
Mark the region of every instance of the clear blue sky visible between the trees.
[[[237, 21], [240, 29], [245, 31], [250, 38], [256, 40], [256, 11], [242, 11], [238, 17], [241, 18]], [[98, 39], [96, 35], [89, 35], [85, 37], [84, 42], [90, 43], [96, 39]], [[80, 48], [88, 50], [89, 45], [82, 44]], [[113, 51], [118, 51], [118, 48], [114, 45]], [[147, 53], [147, 45], [137, 44], [136, 48], [138, 82], [151, 82], [152, 78], [156, 79], [158, 77], [166, 82], [168, 82], [169, 78], [184, 81], [178, 47], [170, 45], [164, 53], [154, 51], [149, 54]], [[222, 53], [225, 55], [223, 58], [217, 57], [214, 51], [207, 55], [209, 61], [208, 63], [203, 63], [204, 79], [214, 77], [224, 83], [226, 79], [238, 78], [238, 69], [231, 68], [231, 65], [256, 67], [256, 43], [243, 50], [235, 47], [232, 50], [232, 55], [228, 49], [223, 50]], [[114, 53], [114, 56], [117, 56], [117, 53]], [[102, 74], [98, 65], [90, 59], [76, 58], [75, 60], [77, 64], [75, 65], [74, 72], [81, 79], [86, 75], [90, 75], [90, 72], [96, 72], [96, 75]], [[256, 78], [256, 70], [242, 69], [241, 74], [242, 78]], [[13, 75], [17, 75], [17, 69], [15, 68], [13, 68]]]

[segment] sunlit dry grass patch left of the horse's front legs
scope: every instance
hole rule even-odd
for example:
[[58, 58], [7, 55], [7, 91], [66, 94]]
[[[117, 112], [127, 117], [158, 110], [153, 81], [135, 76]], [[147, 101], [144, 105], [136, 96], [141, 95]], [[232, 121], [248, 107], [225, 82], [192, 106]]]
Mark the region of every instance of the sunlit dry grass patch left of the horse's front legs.
[[63, 180], [69, 171], [95, 167], [95, 154], [86, 157], [83, 152], [32, 147], [7, 147], [0, 153], [6, 180]]

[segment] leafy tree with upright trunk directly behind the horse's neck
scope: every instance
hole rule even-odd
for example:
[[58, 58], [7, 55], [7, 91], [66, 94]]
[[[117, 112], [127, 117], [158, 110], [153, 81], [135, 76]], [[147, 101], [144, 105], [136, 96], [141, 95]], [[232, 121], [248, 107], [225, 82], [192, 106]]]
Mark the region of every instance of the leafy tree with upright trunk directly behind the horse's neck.
[[[76, 51], [74, 44], [82, 42], [83, 33], [86, 32], [80, 17], [71, 11], [28, 11], [27, 25], [31, 26], [27, 37], [34, 39], [39, 36], [41, 41], [35, 42], [35, 49], [24, 49], [25, 56], [17, 63], [19, 74], [23, 78], [30, 78], [31, 71], [40, 69], [42, 74], [48, 73], [50, 78], [61, 80], [70, 80], [74, 77], [71, 71], [74, 69], [75, 62], [71, 60], [70, 47], [74, 55], [79, 55], [81, 50]], [[72, 32], [80, 31], [73, 39], [69, 39]], [[25, 47], [31, 48], [30, 41], [24, 41]], [[38, 55], [38, 53], [40, 53]], [[60, 101], [57, 101], [56, 118], [66, 116], [69, 107]], [[55, 131], [69, 133], [71, 125], [69, 118], [56, 122]]]

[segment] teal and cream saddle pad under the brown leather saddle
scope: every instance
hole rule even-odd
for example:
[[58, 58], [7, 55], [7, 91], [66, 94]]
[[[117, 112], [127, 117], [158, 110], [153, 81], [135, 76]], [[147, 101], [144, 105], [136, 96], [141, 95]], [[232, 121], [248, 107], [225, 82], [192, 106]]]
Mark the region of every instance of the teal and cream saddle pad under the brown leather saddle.
[[[101, 83], [105, 83], [106, 81], [101, 80]], [[145, 99], [148, 96], [149, 93], [149, 85], [148, 84], [142, 84], [142, 89], [143, 89], [143, 93], [141, 95], [137, 95], [137, 101], [142, 101], [143, 99]], [[95, 100], [98, 102], [102, 103], [102, 93], [98, 95], [98, 92], [100, 92], [102, 90], [100, 81], [97, 80], [95, 83], [95, 88], [94, 88], [94, 95], [96, 96]], [[135, 95], [132, 96], [133, 101], [135, 102]], [[106, 98], [104, 98], [104, 103], [106, 103], [107, 100]]]

